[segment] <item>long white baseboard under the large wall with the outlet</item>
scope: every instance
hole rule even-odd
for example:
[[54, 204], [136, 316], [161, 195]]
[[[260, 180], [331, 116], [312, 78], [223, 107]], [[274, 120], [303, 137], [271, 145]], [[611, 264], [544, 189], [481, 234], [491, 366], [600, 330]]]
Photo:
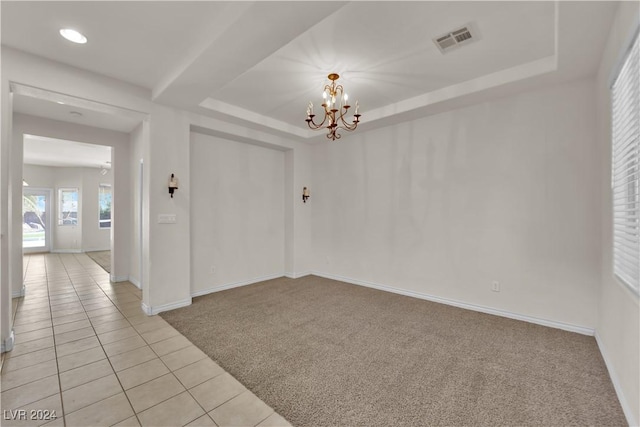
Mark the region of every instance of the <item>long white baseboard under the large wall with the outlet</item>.
[[318, 271], [313, 271], [311, 274], [313, 274], [315, 276], [325, 277], [327, 279], [333, 279], [333, 280], [338, 280], [338, 281], [341, 281], [341, 282], [351, 283], [351, 284], [354, 284], [354, 285], [365, 286], [367, 288], [374, 288], [374, 289], [379, 289], [381, 291], [392, 292], [394, 294], [400, 294], [400, 295], [405, 295], [405, 296], [409, 296], [409, 297], [424, 299], [424, 300], [427, 300], [427, 301], [438, 302], [438, 303], [441, 303], [441, 304], [452, 305], [454, 307], [464, 308], [464, 309], [467, 309], [467, 310], [478, 311], [478, 312], [487, 313], [487, 314], [493, 314], [495, 316], [507, 317], [509, 319], [522, 320], [524, 322], [535, 323], [536, 325], [548, 326], [550, 328], [562, 329], [562, 330], [569, 331], [569, 332], [576, 332], [576, 333], [579, 333], [579, 334], [582, 334], [582, 335], [593, 336], [593, 334], [595, 332], [593, 328], [587, 328], [585, 326], [572, 325], [570, 323], [557, 322], [555, 320], [540, 319], [540, 318], [537, 318], [537, 317], [526, 316], [526, 315], [518, 314], [518, 313], [512, 313], [510, 311], [499, 310], [499, 309], [491, 308], [491, 307], [485, 307], [485, 306], [482, 306], [482, 305], [469, 304], [469, 303], [466, 303], [466, 302], [457, 301], [457, 300], [453, 300], [453, 299], [449, 299], [449, 298], [437, 297], [435, 295], [423, 294], [423, 293], [420, 293], [420, 292], [409, 291], [409, 290], [399, 289], [399, 288], [392, 288], [392, 287], [381, 285], [381, 284], [378, 284], [378, 283], [372, 283], [372, 282], [367, 282], [367, 281], [363, 281], [363, 280], [351, 279], [349, 277], [337, 276], [335, 274], [326, 274], [326, 273], [321, 273], [321, 272], [318, 272]]

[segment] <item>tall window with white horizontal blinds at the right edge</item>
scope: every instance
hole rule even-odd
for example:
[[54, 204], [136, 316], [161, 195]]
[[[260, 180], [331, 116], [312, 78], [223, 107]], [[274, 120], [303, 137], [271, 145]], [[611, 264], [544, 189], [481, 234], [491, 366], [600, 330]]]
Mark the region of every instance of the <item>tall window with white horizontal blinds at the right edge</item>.
[[640, 47], [638, 36], [611, 87], [613, 272], [638, 293], [640, 284]]

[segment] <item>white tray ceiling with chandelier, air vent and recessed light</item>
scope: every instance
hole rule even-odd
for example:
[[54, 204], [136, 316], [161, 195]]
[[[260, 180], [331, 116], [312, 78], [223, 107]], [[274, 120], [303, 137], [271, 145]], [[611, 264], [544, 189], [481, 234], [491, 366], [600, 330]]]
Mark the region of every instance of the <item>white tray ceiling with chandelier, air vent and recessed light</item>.
[[[2, 2], [2, 44], [149, 89], [154, 101], [299, 139], [338, 72], [362, 127], [594, 75], [616, 2]], [[432, 38], [471, 23], [442, 54]], [[89, 39], [71, 44], [58, 30]], [[481, 98], [478, 96], [481, 95]], [[23, 112], [37, 105], [19, 103]], [[43, 112], [39, 114], [53, 114]], [[60, 115], [64, 117], [68, 112]], [[101, 126], [105, 126], [104, 124]]]

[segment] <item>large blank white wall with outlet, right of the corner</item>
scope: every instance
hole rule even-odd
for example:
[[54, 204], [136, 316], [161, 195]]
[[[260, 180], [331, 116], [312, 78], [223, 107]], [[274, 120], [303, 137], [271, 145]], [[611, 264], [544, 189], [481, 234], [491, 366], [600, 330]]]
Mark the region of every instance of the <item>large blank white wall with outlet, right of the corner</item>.
[[585, 80], [314, 146], [314, 270], [592, 331], [594, 118]]

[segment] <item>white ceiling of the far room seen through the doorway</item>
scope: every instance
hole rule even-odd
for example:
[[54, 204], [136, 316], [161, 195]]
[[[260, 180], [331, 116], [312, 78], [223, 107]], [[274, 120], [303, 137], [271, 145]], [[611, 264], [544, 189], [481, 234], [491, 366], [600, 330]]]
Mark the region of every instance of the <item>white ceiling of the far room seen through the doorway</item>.
[[111, 169], [111, 147], [25, 135], [24, 163], [39, 166]]

